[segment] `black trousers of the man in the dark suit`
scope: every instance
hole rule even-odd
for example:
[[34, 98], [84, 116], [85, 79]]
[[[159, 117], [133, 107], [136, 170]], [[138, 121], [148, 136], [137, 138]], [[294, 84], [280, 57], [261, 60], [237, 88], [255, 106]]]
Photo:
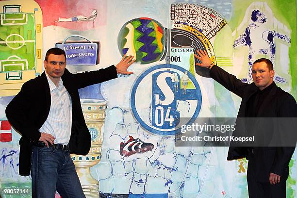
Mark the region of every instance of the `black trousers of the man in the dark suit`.
[[275, 185], [259, 182], [252, 168], [247, 168], [247, 187], [249, 198], [286, 198], [286, 179]]

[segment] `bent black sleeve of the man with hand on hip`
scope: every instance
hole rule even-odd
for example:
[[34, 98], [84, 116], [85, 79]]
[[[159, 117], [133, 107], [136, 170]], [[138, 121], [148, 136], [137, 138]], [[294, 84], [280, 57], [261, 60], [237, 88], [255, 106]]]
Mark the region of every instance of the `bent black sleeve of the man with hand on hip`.
[[33, 91], [28, 83], [24, 83], [20, 92], [7, 105], [5, 113], [11, 125], [31, 143], [38, 141], [41, 133], [34, 128], [28, 116], [29, 109], [33, 106]]

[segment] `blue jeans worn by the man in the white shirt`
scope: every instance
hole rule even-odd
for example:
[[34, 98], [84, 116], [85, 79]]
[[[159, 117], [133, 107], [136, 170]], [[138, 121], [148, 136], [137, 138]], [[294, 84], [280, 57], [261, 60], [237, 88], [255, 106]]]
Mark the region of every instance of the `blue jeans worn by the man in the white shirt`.
[[32, 197], [85, 198], [69, 150], [33, 146]]

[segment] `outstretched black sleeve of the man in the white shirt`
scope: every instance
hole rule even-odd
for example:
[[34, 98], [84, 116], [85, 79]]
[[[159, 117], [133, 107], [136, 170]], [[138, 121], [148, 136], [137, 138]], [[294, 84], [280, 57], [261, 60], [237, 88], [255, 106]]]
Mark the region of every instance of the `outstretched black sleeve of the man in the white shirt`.
[[99, 69], [97, 71], [89, 71], [78, 74], [71, 74], [72, 82], [76, 85], [78, 89], [97, 84], [100, 82], [109, 81], [111, 79], [117, 78], [115, 66], [109, 66], [104, 69]]

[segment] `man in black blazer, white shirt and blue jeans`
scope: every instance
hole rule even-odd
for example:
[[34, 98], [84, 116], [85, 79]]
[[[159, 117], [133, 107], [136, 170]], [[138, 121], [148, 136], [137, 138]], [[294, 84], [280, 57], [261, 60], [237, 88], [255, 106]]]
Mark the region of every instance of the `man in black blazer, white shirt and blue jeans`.
[[86, 155], [91, 136], [85, 124], [78, 89], [132, 74], [127, 68], [133, 56], [116, 66], [71, 74], [65, 51], [49, 49], [45, 72], [25, 82], [7, 105], [6, 116], [22, 137], [19, 141], [19, 174], [32, 177], [33, 198], [84, 198], [70, 152]]

